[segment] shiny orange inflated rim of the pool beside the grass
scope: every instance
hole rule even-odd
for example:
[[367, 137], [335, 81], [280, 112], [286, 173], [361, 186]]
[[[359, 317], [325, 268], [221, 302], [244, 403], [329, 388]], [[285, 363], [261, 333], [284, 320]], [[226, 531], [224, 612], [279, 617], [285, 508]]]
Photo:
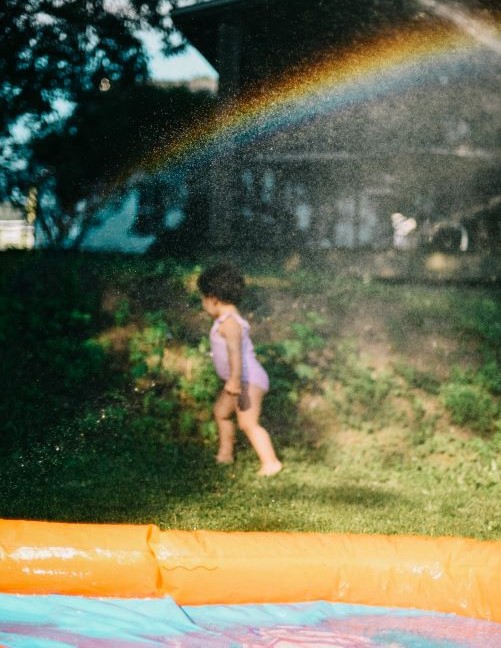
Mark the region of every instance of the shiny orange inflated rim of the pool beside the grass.
[[501, 622], [501, 542], [0, 520], [0, 592], [180, 605], [327, 600]]

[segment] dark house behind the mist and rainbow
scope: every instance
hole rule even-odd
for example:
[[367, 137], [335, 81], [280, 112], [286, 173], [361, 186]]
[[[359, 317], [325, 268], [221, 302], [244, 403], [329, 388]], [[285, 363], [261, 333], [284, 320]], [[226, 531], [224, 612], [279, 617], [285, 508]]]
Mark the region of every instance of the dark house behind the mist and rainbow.
[[472, 30], [460, 46], [468, 34], [435, 4], [205, 0], [173, 12], [218, 71], [221, 104], [255, 115], [200, 174], [211, 244], [384, 249], [392, 214], [426, 241], [501, 194], [481, 180], [501, 177], [501, 59]]

